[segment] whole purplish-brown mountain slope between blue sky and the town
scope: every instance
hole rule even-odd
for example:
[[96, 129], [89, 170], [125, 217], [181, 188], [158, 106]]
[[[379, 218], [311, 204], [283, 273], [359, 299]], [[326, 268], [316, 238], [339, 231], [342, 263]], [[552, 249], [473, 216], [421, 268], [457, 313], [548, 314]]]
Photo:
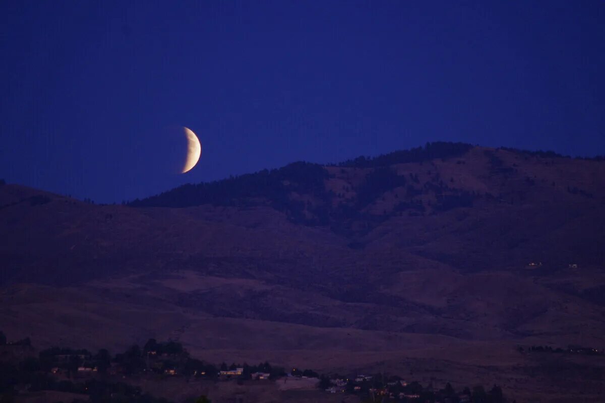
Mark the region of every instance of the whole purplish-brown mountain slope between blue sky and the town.
[[602, 358], [517, 346], [605, 347], [604, 184], [601, 158], [430, 143], [129, 205], [2, 185], [0, 328], [590, 401]]

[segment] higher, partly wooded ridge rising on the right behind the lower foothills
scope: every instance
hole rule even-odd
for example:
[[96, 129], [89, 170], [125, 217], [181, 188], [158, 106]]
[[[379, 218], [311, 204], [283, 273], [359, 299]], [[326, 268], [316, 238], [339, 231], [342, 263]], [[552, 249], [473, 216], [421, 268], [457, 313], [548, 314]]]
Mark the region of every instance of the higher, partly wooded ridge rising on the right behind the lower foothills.
[[270, 207], [294, 224], [329, 229], [350, 248], [404, 248], [464, 269], [531, 260], [602, 266], [604, 178], [602, 159], [429, 143], [338, 166], [294, 163], [183, 185], [130, 205]]

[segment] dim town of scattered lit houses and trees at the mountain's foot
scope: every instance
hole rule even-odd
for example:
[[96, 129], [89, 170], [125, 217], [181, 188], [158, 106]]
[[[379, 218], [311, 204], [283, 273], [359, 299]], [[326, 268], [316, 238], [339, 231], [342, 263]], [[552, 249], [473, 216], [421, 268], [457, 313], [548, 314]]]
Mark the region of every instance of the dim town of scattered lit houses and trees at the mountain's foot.
[[[12, 350], [12, 351], [11, 351]], [[62, 403], [134, 402], [169, 403], [165, 398], [146, 394], [141, 387], [129, 384], [134, 377], [162, 379], [183, 378], [212, 382], [290, 382], [306, 379], [327, 394], [358, 395], [362, 402], [414, 403], [504, 403], [502, 389], [483, 385], [454, 390], [445, 385], [421, 385], [386, 373], [319, 374], [298, 367], [284, 369], [271, 364], [206, 363], [192, 358], [177, 341], [158, 342], [149, 339], [143, 347], [133, 345], [125, 352], [111, 355], [106, 349], [96, 353], [86, 349], [53, 347], [35, 354], [31, 340], [7, 342], [0, 332], [0, 402], [15, 402], [27, 393], [44, 390], [87, 395], [88, 400], [73, 399]], [[234, 403], [244, 403], [237, 396]], [[192, 396], [187, 401], [209, 402], [206, 396]]]

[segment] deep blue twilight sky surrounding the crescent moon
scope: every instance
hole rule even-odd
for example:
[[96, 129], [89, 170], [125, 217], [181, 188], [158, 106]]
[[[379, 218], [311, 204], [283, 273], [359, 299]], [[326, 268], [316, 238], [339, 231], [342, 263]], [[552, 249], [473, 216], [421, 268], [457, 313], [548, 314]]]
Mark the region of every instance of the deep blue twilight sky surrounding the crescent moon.
[[[120, 202], [434, 140], [605, 154], [604, 21], [602, 0], [4, 0], [0, 178]], [[203, 145], [185, 175], [174, 124]]]

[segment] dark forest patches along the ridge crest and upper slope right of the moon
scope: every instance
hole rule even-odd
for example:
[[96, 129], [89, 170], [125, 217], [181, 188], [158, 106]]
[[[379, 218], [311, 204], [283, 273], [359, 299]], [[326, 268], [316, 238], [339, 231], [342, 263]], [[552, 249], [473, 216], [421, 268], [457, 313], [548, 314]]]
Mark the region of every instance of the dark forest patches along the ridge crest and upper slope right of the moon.
[[[402, 214], [410, 210], [410, 214], [424, 214], [425, 206], [414, 196], [422, 193], [440, 195], [436, 202], [437, 211], [450, 210], [457, 207], [471, 207], [473, 196], [470, 193], [460, 193], [450, 189], [438, 175], [427, 187], [420, 185], [417, 174], [397, 175], [392, 164], [428, 161], [434, 158], [451, 158], [463, 155], [473, 146], [466, 143], [427, 143], [424, 147], [401, 150], [375, 158], [361, 156], [355, 160], [339, 164], [344, 167], [373, 168], [365, 181], [356, 187], [356, 199], [353, 203], [341, 201], [333, 205], [335, 195], [332, 190], [326, 190], [324, 182], [329, 178], [329, 172], [321, 165], [298, 162], [280, 169], [261, 170], [260, 172], [232, 176], [228, 179], [200, 184], [186, 184], [160, 195], [146, 199], [136, 199], [129, 203], [132, 207], [189, 207], [192, 205], [212, 204], [238, 207], [269, 205], [275, 210], [282, 211], [297, 224], [330, 225], [337, 233], [366, 231], [375, 224], [383, 221], [391, 214]], [[419, 185], [419, 186], [415, 186]], [[374, 202], [385, 192], [397, 187], [407, 186], [405, 199], [397, 204], [394, 211], [384, 210], [382, 214], [370, 214], [364, 207]], [[418, 189], [420, 188], [420, 189]], [[307, 201], [293, 195], [305, 195]], [[310, 197], [309, 197], [310, 196]], [[396, 197], [399, 198], [400, 195]], [[353, 221], [361, 221], [362, 225], [353, 225]]]

